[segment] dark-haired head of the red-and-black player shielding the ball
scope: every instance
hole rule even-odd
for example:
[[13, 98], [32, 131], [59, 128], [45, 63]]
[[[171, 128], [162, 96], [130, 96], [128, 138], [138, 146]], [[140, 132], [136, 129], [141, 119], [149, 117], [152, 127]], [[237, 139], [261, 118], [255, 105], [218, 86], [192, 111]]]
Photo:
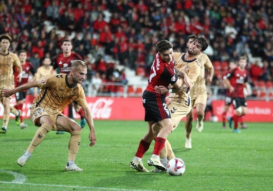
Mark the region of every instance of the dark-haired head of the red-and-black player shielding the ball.
[[156, 50], [159, 52], [164, 62], [171, 62], [173, 59], [173, 45], [168, 40], [161, 40], [156, 44]]

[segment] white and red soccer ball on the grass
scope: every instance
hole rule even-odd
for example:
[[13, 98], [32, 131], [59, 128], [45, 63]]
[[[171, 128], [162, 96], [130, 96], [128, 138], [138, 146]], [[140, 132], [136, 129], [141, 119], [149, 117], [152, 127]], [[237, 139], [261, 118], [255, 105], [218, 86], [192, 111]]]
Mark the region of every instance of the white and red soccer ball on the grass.
[[167, 165], [167, 173], [172, 176], [180, 176], [184, 174], [186, 165], [181, 158], [172, 158]]

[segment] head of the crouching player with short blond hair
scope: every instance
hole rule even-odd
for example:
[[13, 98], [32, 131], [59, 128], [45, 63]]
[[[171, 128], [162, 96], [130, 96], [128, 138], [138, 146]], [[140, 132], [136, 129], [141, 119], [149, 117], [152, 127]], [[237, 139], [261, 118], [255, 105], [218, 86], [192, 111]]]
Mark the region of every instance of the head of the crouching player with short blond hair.
[[87, 66], [81, 60], [74, 60], [71, 65], [70, 74], [72, 75], [75, 84], [81, 84], [87, 74]]

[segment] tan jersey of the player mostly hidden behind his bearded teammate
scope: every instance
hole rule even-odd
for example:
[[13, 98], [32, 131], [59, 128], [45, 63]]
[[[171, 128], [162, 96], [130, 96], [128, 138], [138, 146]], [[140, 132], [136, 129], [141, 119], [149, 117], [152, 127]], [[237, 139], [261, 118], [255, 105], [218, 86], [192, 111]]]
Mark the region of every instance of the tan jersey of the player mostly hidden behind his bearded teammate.
[[212, 68], [212, 63], [206, 54], [199, 54], [197, 59], [200, 63], [201, 71], [190, 93], [191, 97], [199, 92], [206, 91], [205, 69]]

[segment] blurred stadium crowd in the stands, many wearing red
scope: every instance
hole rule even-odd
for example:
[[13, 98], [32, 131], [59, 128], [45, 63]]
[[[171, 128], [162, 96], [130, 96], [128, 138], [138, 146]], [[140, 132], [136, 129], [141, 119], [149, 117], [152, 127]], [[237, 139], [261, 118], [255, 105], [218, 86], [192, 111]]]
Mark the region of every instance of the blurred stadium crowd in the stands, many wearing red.
[[12, 36], [11, 52], [27, 50], [35, 69], [71, 38], [88, 65], [87, 79], [98, 71], [111, 82], [127, 82], [120, 71], [117, 80], [109, 74], [113, 60], [146, 76], [157, 41], [167, 39], [174, 51], [185, 52], [188, 35], [204, 35], [205, 53], [219, 64], [214, 85], [224, 75], [223, 63], [241, 55], [249, 58], [253, 86], [273, 80], [272, 0], [1, 0], [0, 34]]

